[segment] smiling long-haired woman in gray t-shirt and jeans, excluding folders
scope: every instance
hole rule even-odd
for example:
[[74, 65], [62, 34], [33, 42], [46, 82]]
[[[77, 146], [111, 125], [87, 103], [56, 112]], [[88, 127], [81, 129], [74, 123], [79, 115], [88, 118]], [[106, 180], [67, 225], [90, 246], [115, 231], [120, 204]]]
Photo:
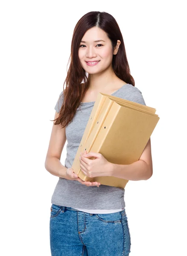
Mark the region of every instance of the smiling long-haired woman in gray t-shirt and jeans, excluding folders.
[[[51, 201], [52, 256], [128, 256], [131, 238], [124, 189], [83, 181], [71, 168], [99, 92], [145, 105], [130, 75], [123, 37], [112, 15], [89, 12], [78, 21], [65, 82], [55, 105], [45, 162], [47, 171], [59, 177]], [[66, 139], [63, 166], [60, 156]], [[86, 153], [80, 156], [86, 175], [114, 176], [116, 170], [127, 180], [147, 180], [152, 175], [150, 140], [140, 160], [130, 165], [114, 165], [102, 154]]]

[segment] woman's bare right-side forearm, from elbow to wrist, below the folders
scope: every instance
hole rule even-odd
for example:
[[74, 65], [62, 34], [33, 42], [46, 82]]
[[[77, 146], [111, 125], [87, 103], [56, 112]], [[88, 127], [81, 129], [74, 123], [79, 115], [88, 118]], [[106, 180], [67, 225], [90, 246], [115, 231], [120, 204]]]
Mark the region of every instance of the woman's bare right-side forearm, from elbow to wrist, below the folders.
[[148, 180], [152, 176], [152, 171], [143, 160], [123, 165], [110, 163], [110, 175], [125, 180]]

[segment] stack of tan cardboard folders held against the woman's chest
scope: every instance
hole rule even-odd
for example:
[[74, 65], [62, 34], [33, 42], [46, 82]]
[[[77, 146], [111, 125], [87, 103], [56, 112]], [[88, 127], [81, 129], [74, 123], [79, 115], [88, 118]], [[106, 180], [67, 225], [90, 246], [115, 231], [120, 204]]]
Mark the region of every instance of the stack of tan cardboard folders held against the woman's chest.
[[155, 108], [98, 93], [72, 164], [73, 171], [84, 181], [124, 188], [129, 180], [113, 176], [87, 177], [81, 171], [80, 153], [85, 150], [101, 153], [115, 164], [138, 161], [160, 119], [155, 111]]

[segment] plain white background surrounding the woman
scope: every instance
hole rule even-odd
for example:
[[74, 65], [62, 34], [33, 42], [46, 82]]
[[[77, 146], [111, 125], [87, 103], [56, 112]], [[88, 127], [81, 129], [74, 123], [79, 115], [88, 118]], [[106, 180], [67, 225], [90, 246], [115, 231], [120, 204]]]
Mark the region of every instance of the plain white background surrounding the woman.
[[135, 86], [160, 117], [151, 136], [153, 175], [129, 181], [125, 190], [130, 256], [187, 255], [187, 20], [184, 1], [172, 0], [1, 1], [0, 254], [51, 255], [49, 218], [58, 177], [44, 167], [50, 120], [63, 90], [73, 29], [90, 11], [117, 20]]

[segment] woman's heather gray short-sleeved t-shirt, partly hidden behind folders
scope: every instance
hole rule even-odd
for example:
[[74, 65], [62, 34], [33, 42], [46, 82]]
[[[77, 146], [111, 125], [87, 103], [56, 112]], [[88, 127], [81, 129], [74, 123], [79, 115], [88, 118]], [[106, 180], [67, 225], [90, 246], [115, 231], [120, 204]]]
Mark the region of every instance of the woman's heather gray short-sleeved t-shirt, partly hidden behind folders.
[[[60, 93], [61, 95], [63, 95], [63, 91]], [[146, 105], [141, 91], [132, 84], [124, 84], [111, 95]], [[63, 96], [55, 105], [57, 112], [60, 111], [62, 102]], [[64, 165], [66, 168], [72, 167], [94, 104], [95, 102], [81, 102], [72, 122], [66, 126], [67, 154]], [[124, 192], [125, 189], [119, 187], [102, 184], [99, 187], [85, 186], [77, 180], [67, 180], [59, 177], [51, 203], [83, 209], [124, 209]]]

